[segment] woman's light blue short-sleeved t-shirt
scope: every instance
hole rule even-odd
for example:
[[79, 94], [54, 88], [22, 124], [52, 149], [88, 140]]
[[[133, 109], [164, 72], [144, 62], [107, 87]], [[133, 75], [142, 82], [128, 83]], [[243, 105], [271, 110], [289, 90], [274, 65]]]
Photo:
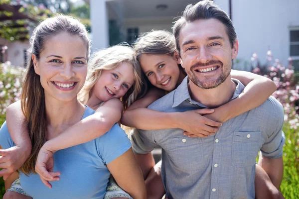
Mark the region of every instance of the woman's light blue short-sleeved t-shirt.
[[[87, 107], [83, 118], [94, 112]], [[0, 145], [3, 149], [14, 146], [6, 122], [0, 129]], [[130, 148], [126, 133], [115, 124], [101, 137], [54, 153], [54, 172], [61, 175], [59, 181], [50, 182], [52, 189], [35, 174], [20, 173], [20, 183], [33, 199], [103, 199], [110, 176], [106, 165]]]

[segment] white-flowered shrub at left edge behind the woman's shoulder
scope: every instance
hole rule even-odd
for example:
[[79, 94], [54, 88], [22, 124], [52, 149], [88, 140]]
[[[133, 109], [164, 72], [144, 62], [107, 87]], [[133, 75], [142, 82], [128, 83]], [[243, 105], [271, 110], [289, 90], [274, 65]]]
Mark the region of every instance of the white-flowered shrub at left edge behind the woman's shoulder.
[[10, 62], [0, 64], [0, 125], [5, 120], [6, 107], [20, 98], [24, 72], [24, 68], [11, 66]]

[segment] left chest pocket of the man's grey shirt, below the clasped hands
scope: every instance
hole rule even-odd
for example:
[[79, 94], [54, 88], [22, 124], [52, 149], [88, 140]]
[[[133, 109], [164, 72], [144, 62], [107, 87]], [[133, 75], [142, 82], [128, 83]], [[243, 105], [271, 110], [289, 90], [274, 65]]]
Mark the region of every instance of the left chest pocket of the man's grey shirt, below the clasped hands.
[[165, 149], [175, 167], [183, 171], [195, 171], [203, 166], [201, 138], [187, 136], [169, 138], [170, 145]]

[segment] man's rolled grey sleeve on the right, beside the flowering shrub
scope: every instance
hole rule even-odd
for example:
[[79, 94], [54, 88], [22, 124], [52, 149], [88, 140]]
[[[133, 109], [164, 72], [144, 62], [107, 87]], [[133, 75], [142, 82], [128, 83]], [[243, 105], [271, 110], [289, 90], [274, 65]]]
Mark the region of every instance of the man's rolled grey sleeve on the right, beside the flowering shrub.
[[261, 152], [264, 157], [275, 159], [283, 156], [285, 143], [285, 134], [283, 132], [284, 109], [277, 100], [270, 98], [269, 101], [271, 102], [271, 110], [268, 114], [268, 129], [266, 129], [268, 139], [263, 144]]

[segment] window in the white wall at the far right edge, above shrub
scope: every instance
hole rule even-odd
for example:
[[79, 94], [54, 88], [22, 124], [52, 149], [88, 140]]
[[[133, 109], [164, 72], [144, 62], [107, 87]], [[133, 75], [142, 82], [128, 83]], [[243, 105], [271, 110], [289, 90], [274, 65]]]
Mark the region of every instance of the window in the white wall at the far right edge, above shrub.
[[299, 71], [299, 28], [290, 30], [290, 56], [295, 70]]

